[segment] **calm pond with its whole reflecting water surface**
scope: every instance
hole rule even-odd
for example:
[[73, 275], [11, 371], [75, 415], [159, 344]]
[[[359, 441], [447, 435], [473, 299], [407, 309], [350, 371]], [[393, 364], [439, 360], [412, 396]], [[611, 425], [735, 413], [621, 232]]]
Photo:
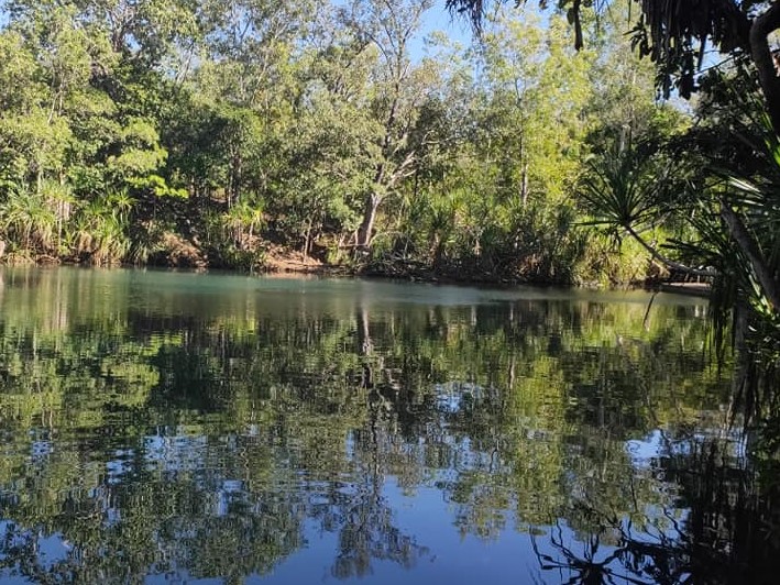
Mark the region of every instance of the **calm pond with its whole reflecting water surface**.
[[0, 276], [3, 583], [677, 583], [777, 562], [741, 550], [755, 473], [702, 299]]

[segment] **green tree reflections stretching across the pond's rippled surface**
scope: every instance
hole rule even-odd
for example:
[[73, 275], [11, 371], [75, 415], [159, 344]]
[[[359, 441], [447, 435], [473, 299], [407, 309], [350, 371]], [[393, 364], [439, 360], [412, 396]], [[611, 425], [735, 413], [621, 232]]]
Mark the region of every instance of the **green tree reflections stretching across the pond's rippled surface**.
[[[438, 488], [463, 534], [564, 518], [613, 550], [626, 541], [613, 515], [636, 523], [674, 504], [663, 486], [686, 485], [637, 470], [626, 440], [719, 400], [681, 341], [701, 342], [704, 324], [673, 308], [649, 329], [641, 306], [587, 301], [274, 314], [241, 298], [158, 319], [120, 295], [85, 322], [89, 289], [50, 288], [23, 290], [51, 292], [43, 309], [21, 306], [84, 311], [30, 321], [9, 288], [0, 323], [3, 551], [39, 580], [238, 578], [294, 554], [311, 521], [337, 537], [336, 576], [410, 566], [427, 551], [394, 523], [388, 477]], [[174, 446], [150, 464], [155, 433]], [[56, 449], [31, 462], [36, 442]], [[41, 540], [57, 533], [73, 548], [47, 565]]]

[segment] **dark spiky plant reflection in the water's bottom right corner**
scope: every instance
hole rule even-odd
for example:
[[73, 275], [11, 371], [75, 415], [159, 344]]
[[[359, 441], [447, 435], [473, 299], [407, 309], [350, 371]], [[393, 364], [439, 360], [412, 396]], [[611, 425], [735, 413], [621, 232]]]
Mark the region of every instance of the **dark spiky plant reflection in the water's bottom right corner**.
[[600, 498], [586, 494], [567, 515], [589, 519], [581, 548], [567, 539], [569, 527], [531, 537], [540, 569], [565, 574], [568, 583], [777, 583], [778, 494], [757, 482], [744, 453], [717, 437], [689, 437], [668, 441], [657, 463], [681, 487], [684, 515], [639, 507], [642, 500], [625, 515], [600, 509]]

